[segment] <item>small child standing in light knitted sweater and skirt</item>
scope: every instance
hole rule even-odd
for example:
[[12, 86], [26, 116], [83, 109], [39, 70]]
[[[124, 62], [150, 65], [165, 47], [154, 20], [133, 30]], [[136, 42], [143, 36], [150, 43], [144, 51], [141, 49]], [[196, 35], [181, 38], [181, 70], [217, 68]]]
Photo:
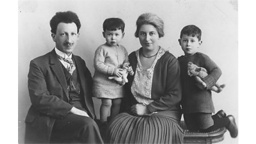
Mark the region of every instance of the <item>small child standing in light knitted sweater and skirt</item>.
[[101, 99], [100, 121], [107, 123], [108, 112], [110, 119], [119, 113], [121, 98], [124, 97], [123, 84], [117, 83], [110, 76], [122, 76], [123, 63], [128, 62], [128, 53], [124, 46], [119, 45], [124, 37], [125, 23], [119, 18], [108, 18], [103, 22], [103, 37], [106, 43], [95, 51], [93, 95]]

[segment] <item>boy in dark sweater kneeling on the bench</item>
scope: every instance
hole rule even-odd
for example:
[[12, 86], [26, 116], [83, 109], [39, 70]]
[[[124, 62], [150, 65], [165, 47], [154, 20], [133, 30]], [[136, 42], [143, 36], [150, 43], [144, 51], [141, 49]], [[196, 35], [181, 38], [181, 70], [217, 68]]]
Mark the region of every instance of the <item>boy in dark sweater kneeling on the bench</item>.
[[[197, 52], [202, 44], [201, 35], [201, 29], [194, 25], [184, 27], [180, 33], [179, 44], [185, 53], [178, 58], [182, 84], [181, 106], [185, 123], [188, 130], [200, 132], [226, 127], [231, 137], [236, 138], [238, 129], [234, 116], [226, 116], [223, 110], [212, 116], [214, 106], [210, 88], [221, 76], [221, 70], [206, 54]], [[202, 79], [206, 86], [196, 85], [195, 78], [188, 75], [188, 62], [208, 71], [209, 75]]]

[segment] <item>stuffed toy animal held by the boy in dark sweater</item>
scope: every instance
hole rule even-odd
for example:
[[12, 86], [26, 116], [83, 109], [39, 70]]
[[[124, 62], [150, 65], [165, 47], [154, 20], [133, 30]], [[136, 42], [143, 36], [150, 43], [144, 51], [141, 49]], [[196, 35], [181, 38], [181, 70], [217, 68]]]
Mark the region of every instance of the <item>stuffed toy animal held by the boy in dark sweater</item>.
[[[205, 68], [198, 67], [193, 62], [188, 62], [188, 75], [194, 76], [197, 82], [196, 85], [201, 89], [205, 89], [206, 84], [204, 81], [202, 81], [202, 78], [205, 78], [208, 75], [207, 70]], [[225, 84], [219, 84], [216, 82], [215, 85], [212, 86], [210, 90], [220, 93], [224, 87]]]

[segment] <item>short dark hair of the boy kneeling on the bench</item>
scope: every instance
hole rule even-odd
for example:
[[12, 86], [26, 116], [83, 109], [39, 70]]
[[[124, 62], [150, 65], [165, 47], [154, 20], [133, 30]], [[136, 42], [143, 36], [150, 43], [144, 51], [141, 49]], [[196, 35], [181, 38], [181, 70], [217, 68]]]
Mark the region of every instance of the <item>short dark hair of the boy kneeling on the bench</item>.
[[180, 31], [180, 38], [182, 35], [188, 35], [188, 36], [196, 36], [198, 38], [198, 41], [201, 40], [202, 31], [195, 25], [188, 25], [186, 27], [183, 27]]

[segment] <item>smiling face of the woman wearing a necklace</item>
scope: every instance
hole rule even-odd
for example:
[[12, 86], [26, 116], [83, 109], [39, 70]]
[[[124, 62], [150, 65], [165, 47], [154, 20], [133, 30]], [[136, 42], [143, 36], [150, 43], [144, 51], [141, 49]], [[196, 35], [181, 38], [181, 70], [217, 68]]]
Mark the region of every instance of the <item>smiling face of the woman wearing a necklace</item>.
[[140, 44], [148, 51], [158, 50], [159, 35], [153, 25], [142, 25], [139, 30]]

